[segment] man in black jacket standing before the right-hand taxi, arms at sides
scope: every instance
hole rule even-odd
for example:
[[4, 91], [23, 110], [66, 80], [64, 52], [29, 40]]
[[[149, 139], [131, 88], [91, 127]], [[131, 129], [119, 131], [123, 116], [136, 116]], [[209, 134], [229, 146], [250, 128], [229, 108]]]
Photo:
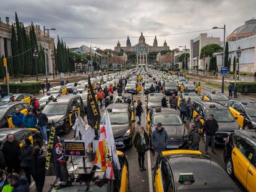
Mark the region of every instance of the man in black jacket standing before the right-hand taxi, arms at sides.
[[215, 134], [218, 131], [219, 125], [216, 119], [214, 119], [214, 115], [210, 114], [209, 119], [207, 119], [203, 125], [203, 131], [206, 133], [206, 142], [205, 142], [205, 154], [208, 154], [208, 145], [211, 140], [211, 151], [215, 152]]

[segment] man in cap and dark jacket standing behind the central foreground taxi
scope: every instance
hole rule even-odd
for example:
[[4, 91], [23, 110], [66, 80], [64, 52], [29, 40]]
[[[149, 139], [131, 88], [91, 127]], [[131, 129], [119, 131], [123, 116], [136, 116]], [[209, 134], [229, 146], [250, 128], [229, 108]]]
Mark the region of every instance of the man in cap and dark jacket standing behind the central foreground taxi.
[[152, 169], [155, 169], [155, 164], [156, 164], [156, 159], [158, 157], [158, 154], [161, 151], [165, 150], [166, 143], [168, 141], [168, 134], [166, 130], [164, 130], [162, 123], [157, 123], [156, 129], [152, 132], [150, 140], [151, 140], [153, 151], [155, 153], [154, 166], [152, 167]]

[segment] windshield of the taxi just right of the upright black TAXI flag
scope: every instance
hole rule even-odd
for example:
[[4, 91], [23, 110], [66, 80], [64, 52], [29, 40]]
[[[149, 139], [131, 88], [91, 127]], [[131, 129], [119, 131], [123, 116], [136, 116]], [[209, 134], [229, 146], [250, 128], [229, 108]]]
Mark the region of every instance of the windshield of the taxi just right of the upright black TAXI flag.
[[[111, 125], [127, 124], [129, 122], [128, 114], [125, 112], [109, 112]], [[105, 114], [101, 118], [101, 124], [105, 123]]]

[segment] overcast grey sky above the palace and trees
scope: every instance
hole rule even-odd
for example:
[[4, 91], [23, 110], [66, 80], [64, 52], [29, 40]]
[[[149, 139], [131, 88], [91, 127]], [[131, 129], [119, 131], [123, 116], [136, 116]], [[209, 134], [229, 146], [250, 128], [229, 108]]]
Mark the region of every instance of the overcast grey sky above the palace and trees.
[[[126, 46], [126, 37], [132, 45], [138, 43], [138, 36], [182, 33], [206, 30], [226, 24], [228, 35], [246, 20], [256, 17], [255, 0], [9, 0], [1, 3], [0, 17], [15, 20], [15, 11], [20, 22], [56, 28], [51, 36], [69, 37], [117, 37], [108, 40], [63, 38], [69, 47], [82, 44], [101, 49], [114, 49], [117, 40]], [[203, 32], [201, 32], [203, 33]], [[223, 30], [207, 31], [208, 36], [221, 37]], [[186, 44], [200, 34], [158, 36], [158, 46], [164, 40], [170, 49]], [[153, 37], [146, 37], [146, 43], [153, 45]]]

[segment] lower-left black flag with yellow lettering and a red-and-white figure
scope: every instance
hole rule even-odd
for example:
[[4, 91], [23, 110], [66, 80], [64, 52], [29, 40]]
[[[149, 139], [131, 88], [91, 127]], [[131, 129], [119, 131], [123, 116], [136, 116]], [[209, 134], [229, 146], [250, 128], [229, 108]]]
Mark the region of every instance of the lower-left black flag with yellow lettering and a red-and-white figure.
[[69, 173], [62, 149], [63, 146], [59, 143], [55, 127], [52, 125], [46, 154], [45, 175], [56, 175], [61, 182], [69, 182]]

